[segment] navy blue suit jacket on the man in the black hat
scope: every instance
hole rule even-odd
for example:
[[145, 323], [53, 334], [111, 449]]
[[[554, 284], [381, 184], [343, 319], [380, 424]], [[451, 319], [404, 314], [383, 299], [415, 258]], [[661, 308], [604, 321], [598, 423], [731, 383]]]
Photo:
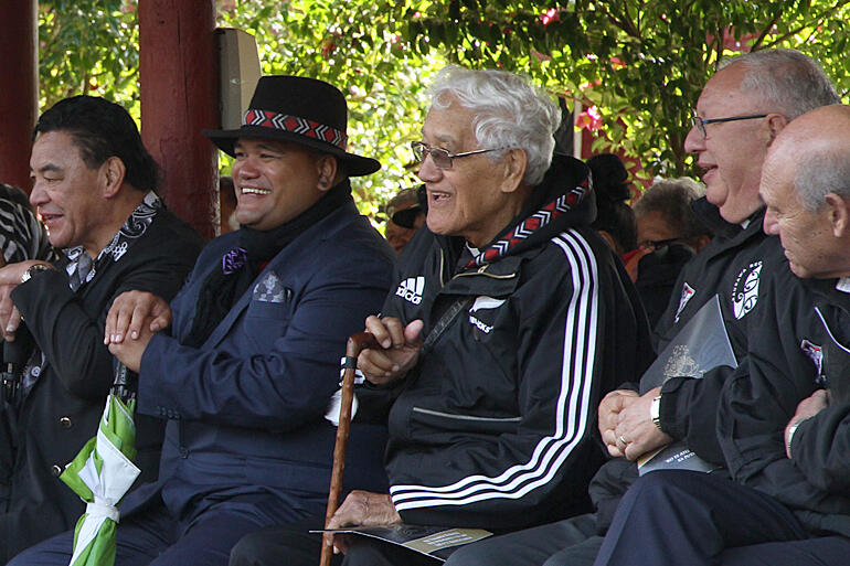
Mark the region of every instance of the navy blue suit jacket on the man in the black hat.
[[[206, 246], [171, 302], [173, 338], [157, 334], [145, 351], [138, 409], [169, 420], [159, 480], [127, 496], [125, 516], [161, 501], [191, 521], [240, 496], [262, 501], [261, 523], [284, 522], [294, 500], [296, 515], [323, 513], [336, 435], [323, 415], [347, 338], [381, 308], [394, 254], [349, 201], [279, 252], [204, 344], [182, 345], [204, 279], [237, 242]], [[385, 490], [385, 427], [362, 426], [349, 485]]]

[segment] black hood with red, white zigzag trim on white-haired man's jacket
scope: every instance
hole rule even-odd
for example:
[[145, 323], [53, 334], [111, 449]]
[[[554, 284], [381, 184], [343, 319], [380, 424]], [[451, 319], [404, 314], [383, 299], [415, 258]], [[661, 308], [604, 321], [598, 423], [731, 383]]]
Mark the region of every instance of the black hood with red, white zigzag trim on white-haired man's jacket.
[[582, 161], [555, 153], [543, 181], [534, 188], [522, 212], [490, 244], [480, 248], [467, 267], [518, 254], [567, 228], [588, 226], [596, 220], [589, 171]]

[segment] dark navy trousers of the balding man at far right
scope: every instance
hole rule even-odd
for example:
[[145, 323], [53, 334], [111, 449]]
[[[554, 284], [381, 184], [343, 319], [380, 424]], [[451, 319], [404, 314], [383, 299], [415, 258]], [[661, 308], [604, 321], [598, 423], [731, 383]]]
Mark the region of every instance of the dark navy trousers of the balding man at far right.
[[620, 501], [595, 566], [839, 566], [850, 540], [809, 538], [775, 499], [725, 478], [656, 471]]

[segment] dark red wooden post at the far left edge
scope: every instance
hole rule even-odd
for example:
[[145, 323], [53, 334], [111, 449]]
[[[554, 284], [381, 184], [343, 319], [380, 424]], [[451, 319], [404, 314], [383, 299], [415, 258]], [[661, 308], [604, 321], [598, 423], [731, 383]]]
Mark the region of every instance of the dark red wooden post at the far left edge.
[[30, 136], [39, 111], [36, 0], [0, 2], [0, 182], [30, 190]]

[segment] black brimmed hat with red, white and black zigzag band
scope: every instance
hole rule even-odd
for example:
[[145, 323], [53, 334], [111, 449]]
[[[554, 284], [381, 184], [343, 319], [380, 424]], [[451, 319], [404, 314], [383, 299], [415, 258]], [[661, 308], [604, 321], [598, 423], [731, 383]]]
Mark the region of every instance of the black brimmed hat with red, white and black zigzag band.
[[348, 106], [339, 89], [315, 78], [272, 75], [259, 78], [251, 106], [237, 130], [203, 130], [219, 148], [233, 156], [238, 138], [289, 141], [330, 153], [349, 177], [381, 169], [374, 159], [346, 151]]

